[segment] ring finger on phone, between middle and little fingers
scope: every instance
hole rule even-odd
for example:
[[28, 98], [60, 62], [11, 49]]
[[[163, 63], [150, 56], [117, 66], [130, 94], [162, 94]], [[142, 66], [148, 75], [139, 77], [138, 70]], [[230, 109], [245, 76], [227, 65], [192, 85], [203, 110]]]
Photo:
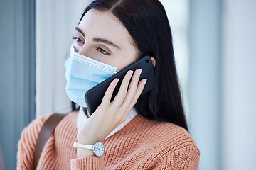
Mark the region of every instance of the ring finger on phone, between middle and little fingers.
[[132, 102], [134, 95], [136, 94], [137, 87], [138, 87], [138, 82], [139, 82], [139, 77], [142, 74], [142, 69], [137, 69], [134, 72], [134, 75], [132, 76], [132, 81], [129, 84], [129, 89], [127, 92], [127, 97], [124, 99], [124, 103], [122, 103], [122, 107], [125, 109], [127, 106], [129, 106], [129, 103]]

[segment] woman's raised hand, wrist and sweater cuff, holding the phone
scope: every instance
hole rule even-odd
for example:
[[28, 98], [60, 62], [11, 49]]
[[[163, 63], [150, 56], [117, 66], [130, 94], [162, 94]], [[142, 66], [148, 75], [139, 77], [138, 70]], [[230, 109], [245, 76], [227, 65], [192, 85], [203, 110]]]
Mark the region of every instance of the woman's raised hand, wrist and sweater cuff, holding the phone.
[[[102, 103], [78, 132], [78, 143], [94, 145], [96, 142], [103, 142], [112, 130], [124, 123], [146, 84], [145, 79], [139, 82], [141, 72], [142, 69], [137, 69], [134, 76], [132, 76], [132, 71], [127, 72], [117, 96], [114, 101], [110, 102], [119, 80], [112, 81], [105, 92]], [[132, 80], [129, 84], [130, 79]], [[78, 158], [71, 160], [71, 169], [105, 169], [104, 159], [95, 157], [91, 150], [78, 147], [77, 152]]]

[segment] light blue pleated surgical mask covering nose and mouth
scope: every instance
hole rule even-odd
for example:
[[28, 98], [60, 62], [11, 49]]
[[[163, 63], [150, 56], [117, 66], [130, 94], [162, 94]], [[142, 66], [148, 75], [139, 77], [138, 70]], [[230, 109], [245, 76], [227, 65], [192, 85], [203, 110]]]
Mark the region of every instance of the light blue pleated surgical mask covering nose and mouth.
[[65, 61], [65, 68], [67, 79], [65, 91], [71, 101], [82, 107], [87, 107], [85, 93], [117, 71], [117, 67], [78, 54], [73, 45], [70, 49], [70, 57]]

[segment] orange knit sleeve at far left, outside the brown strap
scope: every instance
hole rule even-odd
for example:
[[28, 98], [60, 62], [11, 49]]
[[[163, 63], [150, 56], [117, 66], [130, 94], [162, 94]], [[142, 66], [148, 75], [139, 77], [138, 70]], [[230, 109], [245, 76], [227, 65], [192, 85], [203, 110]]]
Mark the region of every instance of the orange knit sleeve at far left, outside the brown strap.
[[17, 169], [34, 169], [33, 152], [36, 146], [38, 134], [49, 115], [33, 120], [21, 133], [18, 142]]

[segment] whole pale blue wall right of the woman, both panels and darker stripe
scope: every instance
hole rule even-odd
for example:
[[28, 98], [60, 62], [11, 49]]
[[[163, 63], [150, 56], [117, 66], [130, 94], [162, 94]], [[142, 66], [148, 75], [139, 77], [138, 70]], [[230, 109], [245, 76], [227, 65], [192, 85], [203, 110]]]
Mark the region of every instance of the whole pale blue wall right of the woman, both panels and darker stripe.
[[256, 1], [190, 1], [189, 124], [199, 169], [256, 169]]

